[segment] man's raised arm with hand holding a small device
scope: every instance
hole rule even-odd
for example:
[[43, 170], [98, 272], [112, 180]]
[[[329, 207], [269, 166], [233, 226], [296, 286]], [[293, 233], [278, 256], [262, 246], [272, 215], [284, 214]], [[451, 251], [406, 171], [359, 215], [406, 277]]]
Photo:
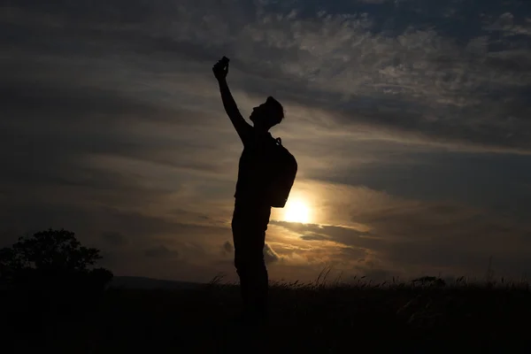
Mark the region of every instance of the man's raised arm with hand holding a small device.
[[228, 58], [223, 57], [219, 60], [218, 63], [212, 67], [212, 71], [214, 72], [216, 79], [218, 79], [219, 92], [221, 93], [221, 100], [223, 101], [225, 112], [227, 112], [228, 118], [230, 118], [235, 126], [236, 132], [240, 135], [240, 139], [245, 143], [251, 134], [252, 127], [245, 121], [245, 119], [243, 119], [242, 113], [238, 110], [235, 99], [230, 93], [230, 89], [228, 89]]

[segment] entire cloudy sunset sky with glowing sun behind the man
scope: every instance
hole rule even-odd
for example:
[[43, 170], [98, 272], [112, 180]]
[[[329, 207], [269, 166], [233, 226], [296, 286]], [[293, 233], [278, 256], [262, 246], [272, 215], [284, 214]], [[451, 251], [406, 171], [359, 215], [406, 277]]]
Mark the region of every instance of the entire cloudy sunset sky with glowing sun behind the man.
[[244, 117], [298, 162], [270, 278], [531, 274], [531, 3], [8, 0], [0, 246], [49, 227], [116, 275], [235, 280]]

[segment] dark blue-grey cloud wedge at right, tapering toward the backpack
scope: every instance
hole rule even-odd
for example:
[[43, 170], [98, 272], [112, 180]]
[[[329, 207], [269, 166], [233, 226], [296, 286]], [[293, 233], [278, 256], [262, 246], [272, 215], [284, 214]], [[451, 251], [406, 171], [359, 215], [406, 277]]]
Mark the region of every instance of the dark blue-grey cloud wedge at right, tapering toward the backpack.
[[384, 163], [375, 160], [359, 164], [355, 169], [338, 167], [334, 174], [315, 171], [310, 177], [363, 185], [385, 190], [393, 196], [419, 200], [436, 202], [451, 198], [524, 220], [531, 208], [526, 188], [531, 179], [530, 161], [528, 156], [510, 154], [406, 151], [395, 152]]

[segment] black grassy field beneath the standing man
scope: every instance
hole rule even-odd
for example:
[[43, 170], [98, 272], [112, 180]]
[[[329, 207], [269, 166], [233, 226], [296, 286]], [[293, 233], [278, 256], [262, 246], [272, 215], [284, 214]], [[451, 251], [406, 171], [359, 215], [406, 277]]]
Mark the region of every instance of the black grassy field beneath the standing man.
[[[4, 345], [17, 352], [353, 353], [529, 352], [527, 283], [413, 285], [273, 284], [271, 323], [235, 320], [235, 285], [198, 289], [108, 289], [72, 311], [2, 301]], [[50, 351], [50, 352], [52, 352]], [[14, 352], [14, 351], [5, 351]]]

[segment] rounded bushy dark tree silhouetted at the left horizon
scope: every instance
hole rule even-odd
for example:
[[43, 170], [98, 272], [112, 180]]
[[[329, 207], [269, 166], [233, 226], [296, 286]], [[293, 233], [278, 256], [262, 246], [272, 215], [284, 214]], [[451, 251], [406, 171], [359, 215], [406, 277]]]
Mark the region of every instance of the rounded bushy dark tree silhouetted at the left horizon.
[[48, 302], [91, 300], [112, 280], [112, 272], [94, 268], [101, 258], [100, 250], [81, 246], [73, 232], [50, 228], [0, 250], [0, 281]]

